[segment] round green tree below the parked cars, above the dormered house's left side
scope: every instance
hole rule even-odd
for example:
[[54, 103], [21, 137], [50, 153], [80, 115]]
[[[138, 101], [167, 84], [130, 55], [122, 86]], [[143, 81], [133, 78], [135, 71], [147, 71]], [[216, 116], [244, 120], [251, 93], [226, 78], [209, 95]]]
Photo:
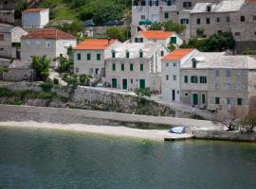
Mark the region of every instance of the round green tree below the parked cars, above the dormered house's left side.
[[120, 42], [125, 42], [131, 37], [131, 28], [112, 26], [106, 30], [106, 35], [110, 39], [118, 39]]

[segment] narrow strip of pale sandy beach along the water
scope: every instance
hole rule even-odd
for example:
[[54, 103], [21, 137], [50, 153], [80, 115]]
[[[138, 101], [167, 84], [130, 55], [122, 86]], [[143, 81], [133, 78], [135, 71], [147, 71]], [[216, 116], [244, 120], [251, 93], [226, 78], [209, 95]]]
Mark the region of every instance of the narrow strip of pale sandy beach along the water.
[[119, 137], [133, 137], [147, 140], [163, 141], [164, 138], [191, 138], [192, 134], [173, 134], [168, 130], [157, 129], [132, 129], [126, 127], [112, 127], [112, 126], [94, 126], [82, 124], [56, 124], [56, 123], [39, 123], [34, 121], [27, 122], [0, 122], [0, 126], [22, 128], [22, 129], [60, 129], [71, 130], [79, 132], [88, 132], [94, 134], [111, 135]]

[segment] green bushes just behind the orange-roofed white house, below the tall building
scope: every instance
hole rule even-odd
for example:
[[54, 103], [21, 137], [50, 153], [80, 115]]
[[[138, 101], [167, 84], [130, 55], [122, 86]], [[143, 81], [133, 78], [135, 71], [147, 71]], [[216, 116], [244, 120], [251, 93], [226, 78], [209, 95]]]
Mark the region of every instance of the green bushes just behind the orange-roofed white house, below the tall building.
[[175, 31], [176, 33], [181, 33], [186, 29], [186, 26], [179, 25], [177, 23], [173, 23], [172, 21], [162, 22], [162, 23], [154, 23], [150, 30], [162, 30], [164, 28], [165, 31]]

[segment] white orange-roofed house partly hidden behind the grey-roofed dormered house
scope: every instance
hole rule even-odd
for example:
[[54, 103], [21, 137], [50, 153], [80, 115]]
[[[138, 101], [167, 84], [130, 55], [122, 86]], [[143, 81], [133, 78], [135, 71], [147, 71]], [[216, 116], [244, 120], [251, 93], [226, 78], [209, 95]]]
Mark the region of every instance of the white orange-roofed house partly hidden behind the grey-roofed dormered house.
[[132, 37], [132, 43], [162, 43], [166, 47], [172, 43], [175, 46], [180, 46], [183, 40], [178, 34], [171, 31], [163, 30], [141, 30], [137, 35]]

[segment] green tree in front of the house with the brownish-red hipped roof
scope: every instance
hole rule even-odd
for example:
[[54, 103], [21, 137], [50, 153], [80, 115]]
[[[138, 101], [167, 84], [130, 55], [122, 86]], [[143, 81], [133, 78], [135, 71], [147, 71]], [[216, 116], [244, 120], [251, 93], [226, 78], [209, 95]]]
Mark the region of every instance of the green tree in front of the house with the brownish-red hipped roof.
[[43, 57], [32, 57], [31, 67], [36, 71], [37, 77], [40, 80], [46, 81], [46, 78], [49, 76], [49, 65], [50, 60], [46, 59], [46, 55]]

